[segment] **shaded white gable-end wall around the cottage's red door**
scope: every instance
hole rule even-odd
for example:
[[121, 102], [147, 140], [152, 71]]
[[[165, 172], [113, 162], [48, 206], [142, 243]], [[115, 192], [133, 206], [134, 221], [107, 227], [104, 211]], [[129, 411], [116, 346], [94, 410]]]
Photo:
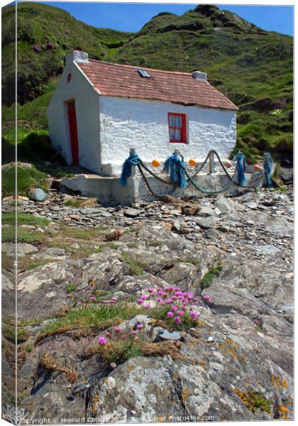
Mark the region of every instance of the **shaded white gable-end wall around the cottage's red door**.
[[[70, 83], [67, 82], [69, 72], [72, 73]], [[101, 173], [99, 95], [94, 91], [77, 65], [68, 58], [65, 70], [47, 110], [50, 139], [53, 146], [60, 150], [68, 164], [72, 163], [72, 153], [65, 102], [70, 100], [75, 100], [77, 113], [79, 164], [89, 170]]]

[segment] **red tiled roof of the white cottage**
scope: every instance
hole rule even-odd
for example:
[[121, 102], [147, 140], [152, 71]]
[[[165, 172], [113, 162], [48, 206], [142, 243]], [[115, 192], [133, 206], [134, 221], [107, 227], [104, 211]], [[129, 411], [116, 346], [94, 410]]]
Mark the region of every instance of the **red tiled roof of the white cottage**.
[[[104, 96], [136, 99], [156, 99], [184, 105], [209, 108], [238, 109], [209, 82], [196, 80], [192, 74], [151, 70], [131, 65], [110, 64], [89, 59], [89, 63], [77, 62], [94, 85], [96, 92]], [[146, 70], [151, 78], [141, 77], [137, 70]]]

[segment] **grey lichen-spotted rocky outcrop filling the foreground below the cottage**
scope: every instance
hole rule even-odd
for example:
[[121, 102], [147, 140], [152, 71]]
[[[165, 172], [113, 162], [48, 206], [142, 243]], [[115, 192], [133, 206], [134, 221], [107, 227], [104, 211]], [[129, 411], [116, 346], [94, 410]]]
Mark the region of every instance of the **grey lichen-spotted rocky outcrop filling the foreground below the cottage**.
[[[18, 397], [26, 415], [51, 422], [293, 418], [291, 192], [192, 200], [189, 205], [199, 207], [192, 214], [187, 202], [140, 203], [133, 206], [138, 214], [131, 214], [121, 206], [67, 207], [59, 197], [52, 195], [43, 204], [20, 201], [23, 212], [51, 219], [41, 228], [31, 225], [30, 231], [58, 239], [66, 222], [67, 229], [105, 224], [119, 232], [115, 243], [102, 230], [100, 247], [99, 240], [92, 241], [94, 253], [81, 258], [74, 253], [86, 250], [83, 239], [72, 239], [71, 250], [47, 247], [44, 240], [19, 246], [23, 265], [45, 262], [28, 271], [24, 266], [18, 275], [18, 321], [23, 324]], [[71, 219], [72, 214], [79, 219]], [[9, 256], [11, 246], [4, 249]], [[148, 315], [138, 314], [136, 298], [169, 285], [202, 301], [195, 327], [172, 332], [153, 315], [153, 301]], [[104, 295], [93, 305], [84, 302], [91, 290]], [[4, 271], [3, 292], [9, 318], [12, 272]], [[102, 300], [113, 297], [113, 306], [133, 309], [131, 317], [115, 317], [99, 327], [96, 312], [102, 315]], [[89, 308], [94, 312], [89, 323], [80, 322]], [[70, 313], [72, 322], [65, 322]], [[122, 332], [143, 324], [139, 336], [149, 349], [107, 361], [97, 339], [99, 334], [113, 337], [115, 324]], [[4, 400], [9, 404], [14, 362], [9, 329], [4, 336]]]

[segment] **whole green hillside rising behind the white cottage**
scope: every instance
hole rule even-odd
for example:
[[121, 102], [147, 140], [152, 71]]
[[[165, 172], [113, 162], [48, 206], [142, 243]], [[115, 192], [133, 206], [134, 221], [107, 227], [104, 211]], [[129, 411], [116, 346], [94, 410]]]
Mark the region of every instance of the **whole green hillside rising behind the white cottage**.
[[[165, 5], [165, 9], [166, 9]], [[13, 9], [4, 8], [4, 135], [13, 119]], [[55, 24], [54, 24], [55, 23]], [[48, 45], [52, 43], [52, 45]], [[38, 45], [40, 50], [35, 51]], [[250, 157], [271, 151], [292, 156], [292, 47], [287, 35], [264, 31], [216, 6], [176, 16], [160, 13], [136, 34], [94, 28], [53, 6], [18, 5], [18, 119], [46, 129], [45, 109], [67, 51], [79, 45], [90, 58], [164, 70], [207, 73], [238, 105], [238, 148]], [[24, 130], [26, 133], [26, 129]]]

